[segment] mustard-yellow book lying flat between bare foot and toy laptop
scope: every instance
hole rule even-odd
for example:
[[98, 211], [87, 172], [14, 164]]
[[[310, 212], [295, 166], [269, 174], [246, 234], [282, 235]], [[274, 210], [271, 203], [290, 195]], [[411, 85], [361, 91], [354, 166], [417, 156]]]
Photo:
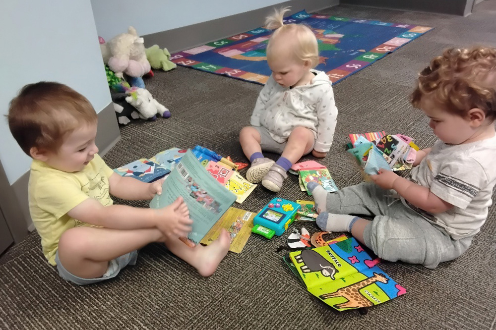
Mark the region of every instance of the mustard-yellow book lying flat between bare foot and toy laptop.
[[221, 229], [224, 228], [231, 235], [229, 251], [241, 253], [251, 235], [253, 217], [255, 217], [255, 214], [252, 212], [231, 207], [207, 232], [200, 243], [205, 245], [212, 243], [219, 237]]

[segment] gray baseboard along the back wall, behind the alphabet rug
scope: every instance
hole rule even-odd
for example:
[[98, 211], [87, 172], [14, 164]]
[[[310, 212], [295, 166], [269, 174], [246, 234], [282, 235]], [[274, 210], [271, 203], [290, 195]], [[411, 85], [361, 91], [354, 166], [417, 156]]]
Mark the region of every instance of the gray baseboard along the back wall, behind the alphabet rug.
[[338, 4], [339, 0], [290, 0], [236, 15], [148, 34], [143, 36], [143, 39], [146, 48], [156, 44], [160, 48], [167, 48], [171, 53], [176, 53], [260, 27], [264, 24], [265, 17], [273, 12], [273, 8], [291, 6], [290, 14], [293, 14], [303, 9], [313, 12]]

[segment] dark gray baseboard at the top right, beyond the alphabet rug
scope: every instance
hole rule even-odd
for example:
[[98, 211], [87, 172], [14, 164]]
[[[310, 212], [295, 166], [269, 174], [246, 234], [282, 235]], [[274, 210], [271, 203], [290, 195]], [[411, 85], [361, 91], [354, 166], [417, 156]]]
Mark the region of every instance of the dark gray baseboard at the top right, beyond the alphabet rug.
[[340, 0], [340, 4], [468, 16], [474, 0]]

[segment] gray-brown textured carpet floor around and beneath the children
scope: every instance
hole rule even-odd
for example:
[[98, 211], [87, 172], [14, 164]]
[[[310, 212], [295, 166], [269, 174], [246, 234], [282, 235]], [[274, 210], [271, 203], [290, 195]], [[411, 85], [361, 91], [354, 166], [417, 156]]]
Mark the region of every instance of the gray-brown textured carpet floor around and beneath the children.
[[[408, 102], [416, 73], [434, 55], [450, 46], [496, 45], [494, 0], [482, 2], [466, 18], [344, 5], [322, 12], [435, 27], [335, 85], [338, 125], [323, 163], [338, 187], [362, 180], [345, 152], [350, 133], [383, 129], [412, 136], [420, 147], [434, 142], [426, 118]], [[172, 117], [122, 127], [121, 141], [104, 158], [110, 166], [195, 144], [245, 161], [238, 133], [249, 122], [261, 86], [182, 67], [156, 72], [145, 83], [170, 108]], [[272, 196], [258, 187], [241, 208], [257, 211]], [[308, 199], [299, 191], [296, 176], [287, 179], [277, 196]], [[252, 235], [244, 251], [230, 253], [209, 278], [151, 244], [141, 250], [136, 266], [115, 280], [76, 287], [48, 266], [40, 238], [33, 233], [0, 258], [0, 328], [493, 330], [495, 220], [492, 208], [467, 253], [435, 270], [383, 263], [381, 268], [408, 292], [373, 307], [365, 316], [357, 311], [335, 312], [308, 293], [282, 263], [283, 253], [275, 251], [285, 236], [266, 240]]]

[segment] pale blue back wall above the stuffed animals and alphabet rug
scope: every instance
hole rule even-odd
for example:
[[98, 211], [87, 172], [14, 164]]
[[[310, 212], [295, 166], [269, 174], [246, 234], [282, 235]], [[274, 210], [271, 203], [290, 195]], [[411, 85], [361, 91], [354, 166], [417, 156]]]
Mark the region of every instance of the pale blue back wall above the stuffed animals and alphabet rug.
[[267, 7], [284, 0], [91, 0], [99, 36], [110, 40], [132, 25], [139, 35], [167, 31]]

